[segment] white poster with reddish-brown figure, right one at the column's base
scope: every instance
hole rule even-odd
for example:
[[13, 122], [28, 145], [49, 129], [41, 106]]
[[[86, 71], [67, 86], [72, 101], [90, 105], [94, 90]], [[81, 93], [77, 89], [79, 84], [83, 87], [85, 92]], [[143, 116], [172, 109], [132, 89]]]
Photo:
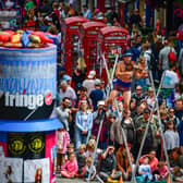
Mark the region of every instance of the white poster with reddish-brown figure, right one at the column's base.
[[24, 182], [49, 183], [50, 169], [49, 158], [25, 160]]

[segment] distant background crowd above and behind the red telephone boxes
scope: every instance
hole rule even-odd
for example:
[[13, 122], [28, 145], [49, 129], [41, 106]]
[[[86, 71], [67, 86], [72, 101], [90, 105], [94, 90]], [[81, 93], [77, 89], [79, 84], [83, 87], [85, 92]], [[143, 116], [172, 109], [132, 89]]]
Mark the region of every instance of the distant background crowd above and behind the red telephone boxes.
[[[141, 16], [138, 9], [135, 9], [132, 15], [123, 25], [120, 24], [119, 14], [110, 10], [106, 13], [101, 12], [98, 8], [90, 10], [87, 4], [82, 5], [82, 10], [76, 10], [76, 2], [72, 0], [26, 0], [20, 1], [21, 14], [22, 14], [22, 28], [50, 32], [51, 34], [59, 34], [61, 32], [62, 20], [71, 16], [84, 16], [89, 20], [100, 20], [108, 25], [124, 26], [125, 28], [144, 27], [145, 22]], [[3, 7], [3, 5], [1, 5]], [[157, 33], [161, 30], [161, 24], [157, 25]], [[135, 33], [133, 33], [135, 34]]]

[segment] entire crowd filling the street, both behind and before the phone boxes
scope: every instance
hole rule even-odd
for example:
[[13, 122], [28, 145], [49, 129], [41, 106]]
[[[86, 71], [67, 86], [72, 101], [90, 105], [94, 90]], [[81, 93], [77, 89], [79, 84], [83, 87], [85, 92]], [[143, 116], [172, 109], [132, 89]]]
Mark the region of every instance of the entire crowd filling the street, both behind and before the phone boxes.
[[[63, 123], [63, 127], [57, 131], [59, 174], [86, 180], [90, 174], [91, 180], [100, 178], [103, 182], [131, 181], [146, 126], [149, 124], [135, 172], [136, 179], [146, 182], [166, 181], [170, 163], [173, 180], [183, 182], [182, 41], [175, 35], [167, 36], [159, 20], [154, 32], [143, 37], [139, 27], [144, 24], [137, 9], [129, 22], [120, 25], [117, 13], [109, 20], [99, 9], [91, 11], [87, 5], [83, 5], [82, 11], [77, 12], [72, 3], [53, 2], [50, 7], [46, 0], [40, 4], [28, 0], [24, 7], [25, 29], [57, 35], [61, 30], [63, 19], [82, 15], [90, 20], [103, 20], [108, 25], [123, 26], [131, 33], [130, 48], [122, 56], [122, 68], [117, 68], [117, 78], [113, 82], [113, 90], [118, 93], [113, 93], [111, 98], [108, 96], [110, 87], [99, 78], [96, 71], [87, 71], [86, 64], [78, 62], [73, 75], [59, 73], [56, 112]], [[120, 76], [121, 70], [125, 73]], [[141, 77], [134, 74], [134, 70]], [[156, 98], [155, 93], [161, 85], [161, 78], [162, 86]], [[126, 85], [126, 81], [130, 84]], [[166, 159], [164, 150], [168, 151], [169, 159]]]

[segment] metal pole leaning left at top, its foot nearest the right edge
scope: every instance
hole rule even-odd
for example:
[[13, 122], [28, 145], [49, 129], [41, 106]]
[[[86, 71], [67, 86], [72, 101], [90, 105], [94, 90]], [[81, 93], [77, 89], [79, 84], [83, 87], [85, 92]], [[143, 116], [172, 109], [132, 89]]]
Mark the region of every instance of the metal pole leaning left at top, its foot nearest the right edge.
[[[164, 73], [163, 73], [163, 77], [164, 77]], [[154, 88], [154, 97], [156, 97], [155, 84], [154, 84], [154, 81], [152, 81], [151, 71], [149, 71], [149, 76], [150, 76], [151, 85], [152, 85], [152, 88]], [[157, 100], [157, 98], [156, 98], [156, 100]], [[162, 146], [163, 146], [163, 149], [164, 149], [167, 164], [168, 164], [168, 170], [169, 170], [169, 174], [170, 174], [170, 182], [173, 182], [172, 181], [172, 174], [171, 174], [171, 171], [170, 171], [169, 156], [168, 156], [168, 152], [167, 152], [166, 141], [164, 141], [164, 135], [163, 135], [163, 131], [162, 131], [162, 125], [161, 125], [161, 119], [160, 119], [160, 112], [159, 112], [159, 105], [158, 105], [158, 102], [156, 102], [156, 108], [157, 108], [157, 113], [158, 113], [158, 121], [159, 121], [159, 126], [160, 126], [160, 133], [161, 133], [161, 137], [162, 137]]]

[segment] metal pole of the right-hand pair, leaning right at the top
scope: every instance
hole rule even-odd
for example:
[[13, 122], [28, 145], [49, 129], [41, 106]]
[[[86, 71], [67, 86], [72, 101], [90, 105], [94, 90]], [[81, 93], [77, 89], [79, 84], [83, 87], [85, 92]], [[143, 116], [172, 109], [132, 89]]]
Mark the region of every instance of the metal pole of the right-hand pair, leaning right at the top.
[[141, 155], [142, 155], [142, 150], [143, 150], [143, 147], [144, 147], [144, 143], [145, 143], [145, 139], [146, 139], [146, 136], [147, 136], [148, 126], [149, 126], [149, 123], [150, 123], [150, 121], [151, 121], [151, 119], [152, 119], [152, 113], [154, 113], [154, 110], [155, 110], [155, 107], [156, 107], [157, 97], [159, 96], [159, 93], [160, 93], [160, 89], [161, 89], [161, 86], [162, 86], [163, 78], [164, 78], [164, 73], [163, 73], [162, 76], [161, 76], [161, 82], [160, 82], [160, 85], [159, 85], [159, 88], [158, 88], [158, 91], [157, 91], [157, 95], [156, 95], [155, 106], [152, 107], [152, 110], [150, 111], [150, 117], [149, 117], [149, 120], [148, 120], [147, 125], [146, 125], [146, 130], [145, 130], [145, 133], [144, 133], [144, 136], [143, 136], [143, 141], [142, 141], [142, 143], [141, 143], [141, 147], [139, 147], [139, 151], [138, 151], [138, 156], [137, 156], [137, 159], [136, 159], [135, 169], [134, 169], [132, 179], [134, 179], [134, 178], [135, 178], [135, 174], [136, 174], [136, 168], [137, 168], [137, 166], [138, 166], [139, 157], [141, 157]]

